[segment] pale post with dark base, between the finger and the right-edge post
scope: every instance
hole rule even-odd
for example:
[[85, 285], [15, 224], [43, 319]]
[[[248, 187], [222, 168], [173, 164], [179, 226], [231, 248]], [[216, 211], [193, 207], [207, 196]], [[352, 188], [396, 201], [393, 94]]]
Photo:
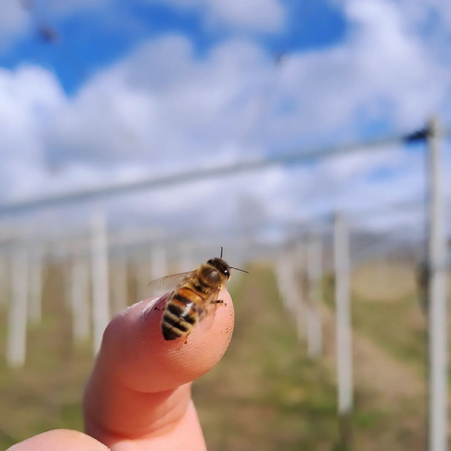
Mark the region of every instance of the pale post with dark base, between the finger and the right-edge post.
[[341, 215], [335, 218], [334, 235], [338, 416], [341, 445], [348, 449], [351, 445], [353, 409], [350, 250], [348, 227]]

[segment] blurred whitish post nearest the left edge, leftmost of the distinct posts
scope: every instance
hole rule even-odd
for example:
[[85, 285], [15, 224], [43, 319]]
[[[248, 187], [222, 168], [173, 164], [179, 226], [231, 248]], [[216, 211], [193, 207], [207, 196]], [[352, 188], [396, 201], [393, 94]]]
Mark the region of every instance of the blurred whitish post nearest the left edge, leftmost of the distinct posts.
[[26, 358], [28, 300], [28, 252], [23, 243], [16, 244], [13, 250], [11, 279], [6, 361], [10, 367], [22, 367]]

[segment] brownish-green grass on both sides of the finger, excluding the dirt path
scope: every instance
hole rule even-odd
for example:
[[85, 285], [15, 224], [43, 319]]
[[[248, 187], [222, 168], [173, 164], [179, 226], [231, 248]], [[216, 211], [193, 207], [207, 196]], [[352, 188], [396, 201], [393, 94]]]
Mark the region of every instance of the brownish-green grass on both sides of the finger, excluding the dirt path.
[[[25, 368], [13, 371], [0, 361], [0, 449], [48, 429], [83, 429], [80, 400], [91, 351], [74, 350], [60, 269], [49, 274], [44, 320], [28, 334]], [[331, 288], [325, 284], [324, 290], [332, 305]], [[209, 451], [337, 450], [335, 370], [306, 356], [294, 321], [282, 311], [272, 272], [253, 267], [231, 294], [236, 325], [230, 348], [193, 387]], [[413, 304], [400, 302], [381, 306], [354, 299], [354, 325], [387, 353], [414, 362], [422, 351], [410, 342], [418, 337], [403, 335], [410, 320], [401, 314]], [[5, 324], [0, 311], [1, 350]], [[380, 405], [378, 397], [368, 387], [356, 387], [355, 449], [421, 449], [416, 423], [410, 424], [417, 410]]]

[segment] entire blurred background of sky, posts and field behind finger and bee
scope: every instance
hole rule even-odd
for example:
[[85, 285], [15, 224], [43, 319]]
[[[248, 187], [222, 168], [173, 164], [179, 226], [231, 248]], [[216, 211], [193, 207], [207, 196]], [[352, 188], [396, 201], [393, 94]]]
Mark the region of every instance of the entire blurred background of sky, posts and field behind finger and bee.
[[450, 41], [440, 0], [0, 2], [0, 448], [83, 430], [110, 318], [223, 246], [210, 451], [445, 451]]

